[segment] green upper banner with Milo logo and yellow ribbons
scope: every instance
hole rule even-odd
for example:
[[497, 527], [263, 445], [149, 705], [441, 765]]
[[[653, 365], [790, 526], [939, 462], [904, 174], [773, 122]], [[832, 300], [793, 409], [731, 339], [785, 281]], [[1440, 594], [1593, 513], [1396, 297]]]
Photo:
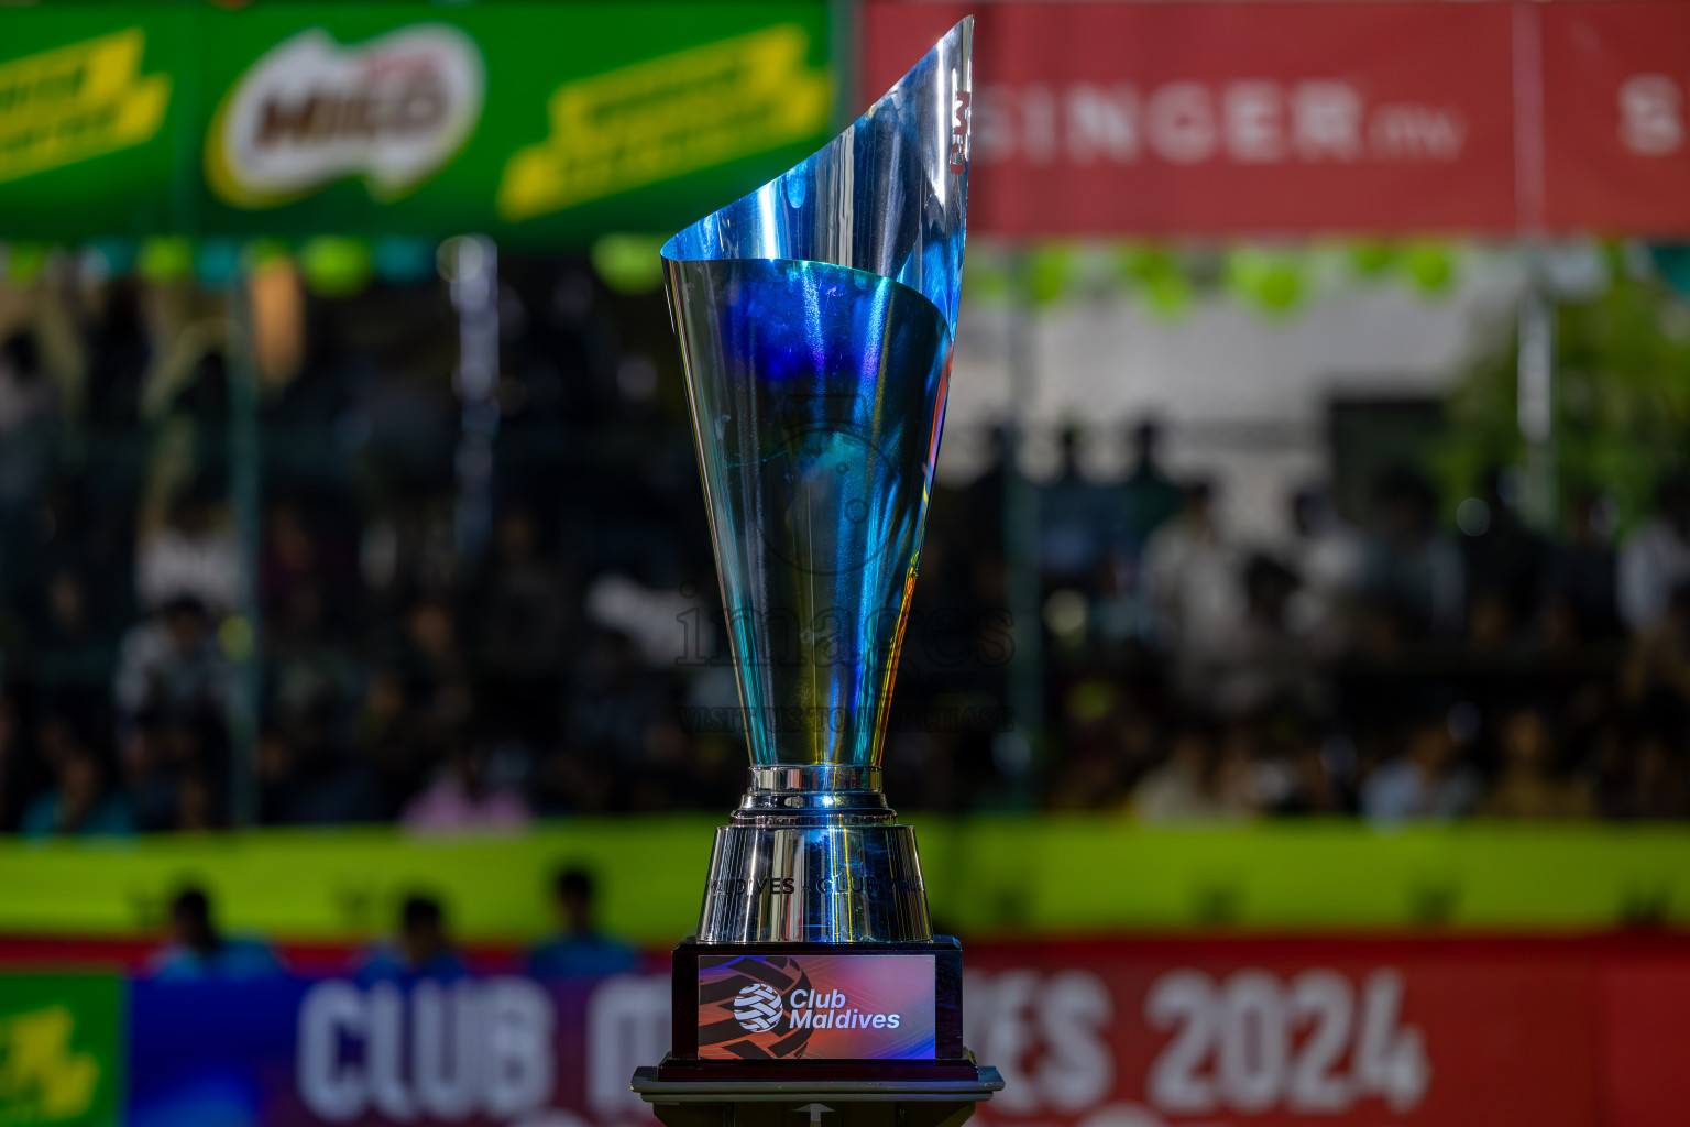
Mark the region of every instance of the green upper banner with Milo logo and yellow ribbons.
[[820, 147], [825, 0], [0, 8], [0, 237], [666, 231]]

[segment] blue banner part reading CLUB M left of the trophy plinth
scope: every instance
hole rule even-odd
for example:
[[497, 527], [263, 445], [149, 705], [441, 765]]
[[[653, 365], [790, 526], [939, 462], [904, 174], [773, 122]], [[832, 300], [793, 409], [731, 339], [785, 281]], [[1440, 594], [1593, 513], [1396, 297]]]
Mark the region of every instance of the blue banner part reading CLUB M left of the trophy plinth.
[[644, 1124], [668, 975], [137, 982], [128, 1127]]

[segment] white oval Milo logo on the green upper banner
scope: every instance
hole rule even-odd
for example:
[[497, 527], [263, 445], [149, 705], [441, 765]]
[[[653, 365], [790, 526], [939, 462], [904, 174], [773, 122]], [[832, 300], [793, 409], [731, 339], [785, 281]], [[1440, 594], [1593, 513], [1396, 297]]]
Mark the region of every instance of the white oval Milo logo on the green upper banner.
[[362, 176], [379, 201], [438, 172], [482, 120], [482, 52], [450, 24], [412, 24], [343, 47], [304, 30], [260, 57], [206, 133], [211, 191], [274, 208]]

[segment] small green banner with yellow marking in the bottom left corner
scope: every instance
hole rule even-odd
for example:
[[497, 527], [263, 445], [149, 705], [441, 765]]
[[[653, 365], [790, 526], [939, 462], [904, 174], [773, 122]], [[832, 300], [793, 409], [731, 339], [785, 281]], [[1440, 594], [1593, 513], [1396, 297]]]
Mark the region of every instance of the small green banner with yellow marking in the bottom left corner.
[[0, 1127], [110, 1127], [123, 1090], [123, 982], [0, 975]]

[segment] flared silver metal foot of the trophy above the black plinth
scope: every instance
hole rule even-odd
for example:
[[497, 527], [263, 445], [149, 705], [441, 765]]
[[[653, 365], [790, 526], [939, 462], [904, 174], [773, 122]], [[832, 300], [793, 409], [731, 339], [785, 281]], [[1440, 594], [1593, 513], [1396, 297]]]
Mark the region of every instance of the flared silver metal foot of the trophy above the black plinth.
[[916, 831], [867, 765], [762, 765], [717, 830], [700, 943], [933, 938]]

